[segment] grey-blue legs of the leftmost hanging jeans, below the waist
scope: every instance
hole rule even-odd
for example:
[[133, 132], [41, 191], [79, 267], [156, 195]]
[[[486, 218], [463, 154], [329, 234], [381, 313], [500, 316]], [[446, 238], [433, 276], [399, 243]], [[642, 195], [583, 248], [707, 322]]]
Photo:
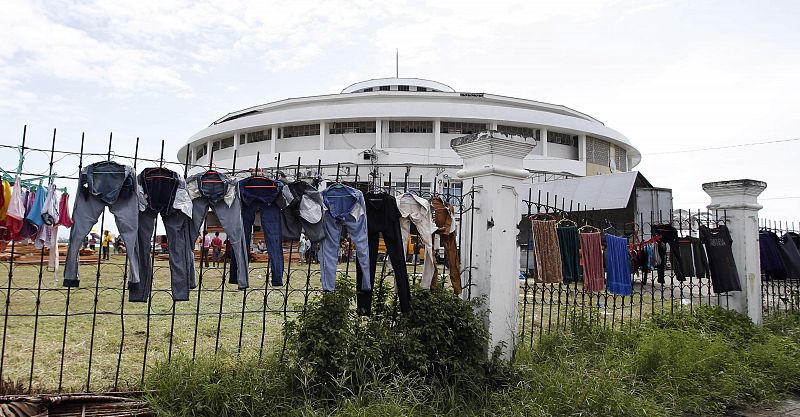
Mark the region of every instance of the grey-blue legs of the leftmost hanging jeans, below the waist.
[[[108, 206], [117, 223], [117, 230], [122, 235], [125, 247], [128, 249], [128, 286], [136, 288], [139, 285], [139, 265], [136, 261], [139, 256], [137, 252], [137, 236], [139, 229], [139, 202], [136, 192], [129, 193], [128, 196], [120, 196], [114, 204]], [[67, 259], [64, 262], [64, 286], [77, 287], [80, 284], [78, 275], [79, 251], [83, 238], [97, 223], [100, 214], [106, 208], [106, 204], [99, 198], [84, 192], [75, 194], [75, 206], [72, 209], [72, 230], [69, 232], [69, 246], [67, 247]]]

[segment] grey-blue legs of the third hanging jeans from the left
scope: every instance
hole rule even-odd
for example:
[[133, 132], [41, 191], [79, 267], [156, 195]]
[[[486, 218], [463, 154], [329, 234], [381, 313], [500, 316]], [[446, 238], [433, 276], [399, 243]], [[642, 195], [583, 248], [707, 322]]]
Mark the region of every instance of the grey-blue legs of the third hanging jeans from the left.
[[[222, 228], [225, 229], [225, 234], [231, 241], [233, 253], [236, 262], [236, 276], [231, 276], [231, 281], [234, 280], [239, 286], [240, 290], [248, 287], [248, 258], [247, 245], [244, 241], [244, 226], [242, 226], [242, 202], [239, 198], [233, 200], [230, 207], [225, 204], [225, 200], [212, 202], [205, 197], [197, 197], [192, 200], [192, 222], [194, 225], [191, 230], [192, 245], [200, 236], [200, 228], [203, 226], [203, 220], [208, 213], [208, 207], [211, 206], [216, 213]], [[194, 274], [192, 274], [194, 276]]]

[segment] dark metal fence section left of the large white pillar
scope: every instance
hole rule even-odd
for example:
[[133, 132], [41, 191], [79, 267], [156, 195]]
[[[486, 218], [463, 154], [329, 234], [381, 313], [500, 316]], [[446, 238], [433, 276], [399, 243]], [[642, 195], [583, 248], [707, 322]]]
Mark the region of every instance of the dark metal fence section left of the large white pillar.
[[[56, 147], [56, 132], [53, 132], [49, 149], [26, 146], [23, 133], [19, 146], [0, 145], [0, 160], [16, 161], [17, 172], [23, 180], [41, 181], [43, 185], [55, 182], [66, 185], [66, 191], [74, 193], [82, 167], [113, 159], [128, 164], [138, 173], [149, 166], [163, 166], [173, 171], [189, 173], [192, 168], [215, 170], [231, 175], [249, 175], [253, 167], [237, 169], [236, 152], [230, 168], [213, 164], [213, 153], [208, 166], [191, 164], [164, 158], [164, 143], [160, 157], [143, 155], [138, 138], [133, 151], [128, 154], [115, 147], [113, 137], [98, 146], [97, 141], [80, 139], [80, 150], [59, 150]], [[98, 151], [102, 148], [104, 151]], [[112, 151], [112, 149], [114, 151]], [[35, 161], [39, 158], [38, 164]], [[188, 160], [188, 158], [187, 158]], [[258, 168], [258, 157], [256, 158]], [[360, 189], [377, 186], [389, 193], [414, 192], [423, 198], [439, 195], [455, 206], [458, 236], [463, 228], [464, 214], [471, 210], [471, 192], [463, 191], [458, 184], [445, 182], [437, 190], [437, 182], [426, 189], [422, 177], [409, 178], [409, 173], [400, 181], [388, 182], [384, 176], [375, 175], [379, 164], [340, 164], [342, 169], [323, 167], [319, 161], [312, 164], [281, 166], [280, 156], [275, 166], [262, 167], [270, 175], [286, 175], [290, 179], [301, 178], [313, 171], [312, 182], [342, 181]], [[43, 172], [31, 172], [29, 166], [46, 167]], [[9, 168], [9, 167], [4, 167]], [[327, 168], [327, 174], [323, 170]], [[9, 169], [9, 171], [12, 171]], [[33, 170], [35, 171], [35, 170]], [[64, 174], [67, 172], [67, 174]], [[308, 178], [306, 178], [308, 179]], [[415, 184], [416, 183], [416, 184]], [[397, 184], [402, 184], [400, 187]], [[383, 187], [381, 187], [383, 186]], [[74, 194], [72, 196], [74, 199]], [[74, 201], [74, 200], [73, 200]], [[99, 231], [112, 222], [110, 213], [103, 213], [98, 221]], [[207, 226], [203, 226], [207, 229]], [[283, 326], [302, 314], [309, 302], [322, 293], [318, 263], [299, 263], [297, 242], [284, 242], [284, 254], [289, 260], [284, 271], [284, 285], [274, 287], [270, 282], [268, 262], [250, 263], [250, 287], [237, 290], [228, 284], [228, 265], [224, 260], [220, 266], [207, 266], [206, 259], [197, 259], [197, 288], [190, 293], [189, 301], [175, 302], [170, 289], [170, 270], [166, 256], [157, 253], [156, 234], [153, 235], [153, 288], [146, 303], [128, 301], [126, 288], [128, 264], [124, 255], [111, 256], [103, 261], [99, 251], [93, 256], [82, 256], [80, 266], [80, 288], [62, 287], [63, 271], [54, 273], [47, 268], [47, 252], [44, 248], [32, 249], [29, 244], [11, 242], [0, 252], [0, 299], [4, 301], [0, 319], [0, 381], [8, 382], [23, 390], [47, 391], [118, 391], [135, 389], [144, 381], [148, 368], [156, 360], [172, 360], [176, 355], [198, 358], [201, 355], [216, 355], [221, 352], [258, 355], [283, 354], [286, 339]], [[414, 238], [412, 230], [412, 239]], [[348, 240], [349, 242], [349, 240]], [[352, 248], [350, 253], [355, 253]], [[471, 242], [459, 242], [462, 250], [469, 250]], [[409, 277], [416, 284], [422, 275], [419, 256], [421, 245], [415, 246], [415, 254], [409, 256]], [[355, 275], [356, 257], [342, 259], [338, 266], [340, 274]], [[387, 260], [379, 257], [375, 288], [389, 289], [394, 286], [394, 274], [387, 268]], [[471, 293], [472, 268], [462, 265], [463, 282], [467, 296]], [[447, 276], [446, 263], [440, 262], [439, 271]], [[3, 279], [4, 278], [4, 279]], [[447, 280], [440, 280], [446, 285]], [[396, 306], [396, 300], [394, 305]], [[2, 386], [2, 384], [0, 384]], [[0, 389], [0, 391], [2, 391]]]

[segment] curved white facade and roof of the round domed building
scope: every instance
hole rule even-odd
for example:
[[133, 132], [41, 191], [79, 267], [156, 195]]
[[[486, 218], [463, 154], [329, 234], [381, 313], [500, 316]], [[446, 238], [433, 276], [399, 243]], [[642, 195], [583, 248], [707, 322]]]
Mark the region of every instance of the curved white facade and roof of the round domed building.
[[[452, 177], [461, 159], [450, 140], [478, 130], [498, 130], [536, 140], [526, 158], [531, 171], [585, 176], [629, 171], [641, 155], [621, 133], [568, 107], [493, 94], [455, 92], [414, 78], [363, 81], [340, 94], [291, 98], [229, 113], [193, 135], [178, 153], [196, 165], [247, 169], [320, 163], [332, 175], [337, 163], [377, 163], [383, 181], [409, 175], [430, 185]], [[547, 138], [547, 140], [545, 140]], [[365, 155], [366, 153], [366, 155]], [[395, 168], [387, 168], [395, 166]], [[333, 168], [332, 168], [333, 167]], [[353, 167], [342, 176], [355, 175]], [[367, 179], [369, 168], [359, 173]], [[289, 172], [292, 172], [289, 170]]]

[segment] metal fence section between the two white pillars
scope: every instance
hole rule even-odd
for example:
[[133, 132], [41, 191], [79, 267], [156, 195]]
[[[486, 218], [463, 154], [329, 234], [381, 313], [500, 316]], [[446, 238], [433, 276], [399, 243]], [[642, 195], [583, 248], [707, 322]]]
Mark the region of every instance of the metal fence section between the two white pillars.
[[[558, 218], [574, 221], [579, 226], [592, 225], [604, 233], [626, 237], [632, 245], [644, 242], [650, 230], [639, 225], [670, 224], [680, 237], [698, 237], [698, 226], [713, 227], [724, 224], [727, 216], [724, 211], [708, 210], [670, 210], [651, 212], [646, 216], [639, 213], [638, 221], [614, 224], [606, 220], [602, 210], [594, 210], [580, 203], [567, 201], [556, 195], [533, 195], [530, 191], [525, 200], [528, 215], [550, 213]], [[647, 218], [646, 218], [647, 217]], [[649, 229], [649, 227], [648, 227]], [[535, 262], [531, 247], [532, 241], [521, 242], [523, 247], [521, 266], [532, 270]], [[542, 283], [530, 275], [523, 274], [520, 279], [520, 340], [533, 346], [545, 333], [566, 330], [576, 320], [588, 320], [610, 329], [624, 329], [654, 313], [692, 312], [702, 305], [728, 305], [728, 294], [716, 294], [709, 278], [686, 276], [680, 279], [669, 262], [665, 270], [664, 282], [658, 282], [656, 271], [649, 274], [632, 269], [633, 292], [631, 295], [610, 293], [606, 287], [602, 292], [584, 289], [582, 282]]]

